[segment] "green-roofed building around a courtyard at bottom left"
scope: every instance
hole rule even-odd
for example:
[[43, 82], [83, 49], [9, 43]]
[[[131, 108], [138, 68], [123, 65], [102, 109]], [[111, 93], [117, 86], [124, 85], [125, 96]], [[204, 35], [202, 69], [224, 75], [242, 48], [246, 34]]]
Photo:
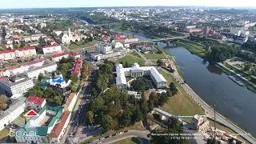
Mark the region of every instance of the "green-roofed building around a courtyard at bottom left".
[[[43, 106], [42, 110], [38, 112], [38, 117], [30, 118], [25, 126], [15, 131], [16, 133], [17, 131], [21, 133], [15, 135], [17, 143], [50, 143], [48, 135], [54, 130], [54, 126], [61, 122], [60, 118], [63, 110], [64, 108], [62, 106], [51, 104]], [[31, 136], [30, 134], [34, 135]]]

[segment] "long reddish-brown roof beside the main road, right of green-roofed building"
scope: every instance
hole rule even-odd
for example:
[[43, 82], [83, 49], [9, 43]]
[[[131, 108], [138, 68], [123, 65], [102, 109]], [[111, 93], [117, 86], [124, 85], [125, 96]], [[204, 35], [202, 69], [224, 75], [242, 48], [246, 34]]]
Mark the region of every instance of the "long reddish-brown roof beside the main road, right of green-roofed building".
[[70, 111], [64, 111], [62, 116], [58, 120], [58, 123], [54, 126], [54, 129], [50, 133], [51, 138], [58, 138], [58, 135], [61, 134], [62, 128], [65, 126], [65, 123], [70, 116]]

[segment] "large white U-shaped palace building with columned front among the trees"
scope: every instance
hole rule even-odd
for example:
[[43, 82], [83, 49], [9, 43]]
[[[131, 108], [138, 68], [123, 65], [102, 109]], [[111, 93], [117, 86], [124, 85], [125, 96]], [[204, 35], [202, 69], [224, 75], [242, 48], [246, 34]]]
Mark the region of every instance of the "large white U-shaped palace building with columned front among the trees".
[[150, 75], [150, 78], [157, 88], [166, 88], [166, 79], [163, 78], [162, 74], [160, 74], [154, 66], [140, 67], [138, 63], [134, 63], [132, 67], [123, 68], [122, 64], [117, 64], [116, 72], [116, 83], [119, 90], [127, 89], [126, 77], [138, 78], [144, 75]]

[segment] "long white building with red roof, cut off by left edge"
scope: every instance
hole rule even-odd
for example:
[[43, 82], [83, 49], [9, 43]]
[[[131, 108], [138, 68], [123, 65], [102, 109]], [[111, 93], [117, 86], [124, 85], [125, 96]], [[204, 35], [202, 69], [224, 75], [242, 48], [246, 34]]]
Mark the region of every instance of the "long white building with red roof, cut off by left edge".
[[0, 51], [0, 61], [10, 60], [15, 58], [28, 58], [37, 55], [34, 47], [26, 47], [15, 50]]

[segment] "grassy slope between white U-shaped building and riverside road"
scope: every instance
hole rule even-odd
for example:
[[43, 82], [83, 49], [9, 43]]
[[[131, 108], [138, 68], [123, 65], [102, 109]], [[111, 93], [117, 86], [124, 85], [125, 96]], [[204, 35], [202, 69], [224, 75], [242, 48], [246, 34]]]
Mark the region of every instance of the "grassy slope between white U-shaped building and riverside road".
[[183, 115], [183, 116], [205, 114], [202, 107], [200, 107], [196, 102], [194, 102], [194, 100], [188, 94], [186, 94], [186, 91], [183, 90], [182, 87], [179, 86], [178, 83], [174, 81], [174, 78], [170, 74], [167, 74], [163, 70], [158, 70], [158, 71], [160, 74], [162, 74], [164, 78], [166, 78], [166, 81], [168, 84], [170, 82], [174, 82], [175, 86], [177, 86], [178, 88], [178, 94], [169, 98], [167, 103], [164, 106], [162, 106], [162, 110], [166, 110], [167, 112], [170, 112], [171, 114], [174, 114], [174, 115]]

